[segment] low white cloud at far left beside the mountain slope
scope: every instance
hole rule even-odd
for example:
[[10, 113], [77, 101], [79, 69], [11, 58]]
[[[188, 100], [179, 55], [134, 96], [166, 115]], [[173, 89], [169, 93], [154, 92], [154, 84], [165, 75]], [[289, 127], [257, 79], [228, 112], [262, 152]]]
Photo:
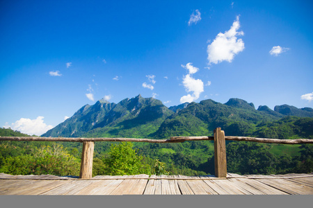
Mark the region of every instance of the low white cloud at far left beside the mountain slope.
[[13, 130], [17, 130], [27, 135], [40, 136], [47, 132], [47, 130], [54, 128], [53, 125], [47, 125], [46, 123], [44, 123], [43, 119], [43, 116], [38, 116], [37, 119], [33, 120], [22, 118], [18, 121], [15, 121], [15, 123], [12, 123], [11, 125], [5, 125], [3, 127], [12, 128]]

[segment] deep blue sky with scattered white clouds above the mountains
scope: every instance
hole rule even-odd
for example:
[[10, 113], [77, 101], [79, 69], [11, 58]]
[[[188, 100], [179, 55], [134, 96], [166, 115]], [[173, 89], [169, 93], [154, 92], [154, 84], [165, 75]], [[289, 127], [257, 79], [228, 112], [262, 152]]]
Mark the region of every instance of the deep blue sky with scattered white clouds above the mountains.
[[0, 125], [141, 94], [313, 107], [312, 1], [0, 2]]

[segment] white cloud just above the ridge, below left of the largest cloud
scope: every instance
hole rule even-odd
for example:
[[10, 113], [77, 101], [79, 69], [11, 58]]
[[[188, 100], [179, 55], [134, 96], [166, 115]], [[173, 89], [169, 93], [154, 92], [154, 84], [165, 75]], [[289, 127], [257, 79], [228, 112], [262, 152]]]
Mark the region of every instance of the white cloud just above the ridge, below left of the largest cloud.
[[202, 92], [204, 92], [203, 82], [202, 80], [198, 79], [195, 80], [191, 77], [190, 74], [187, 74], [183, 78], [183, 85], [186, 89], [186, 92], [193, 92], [193, 94], [188, 94], [186, 96], [182, 96], [180, 98], [180, 103], [191, 103], [197, 100]]

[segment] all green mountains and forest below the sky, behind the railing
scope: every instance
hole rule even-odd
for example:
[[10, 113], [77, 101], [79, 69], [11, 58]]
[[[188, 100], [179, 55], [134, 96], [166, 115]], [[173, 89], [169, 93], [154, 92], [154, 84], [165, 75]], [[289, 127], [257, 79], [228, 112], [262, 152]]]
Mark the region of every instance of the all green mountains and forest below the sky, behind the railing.
[[[313, 139], [312, 108], [281, 105], [276, 110], [266, 106], [255, 110], [252, 103], [232, 98], [225, 104], [206, 100], [170, 109], [175, 112], [161, 101], [140, 95], [118, 104], [102, 100], [95, 105], [81, 107], [70, 119], [49, 130], [45, 137], [164, 139], [212, 136], [213, 130], [220, 127], [225, 135], [230, 136]], [[0, 128], [0, 136], [28, 135]], [[54, 155], [54, 148], [62, 154]], [[78, 175], [81, 148], [81, 144], [76, 142], [0, 141], [0, 172]], [[227, 141], [226, 149], [227, 171], [230, 173], [308, 173], [313, 168], [312, 145]], [[213, 175], [214, 143], [97, 142], [93, 161], [93, 175]]]

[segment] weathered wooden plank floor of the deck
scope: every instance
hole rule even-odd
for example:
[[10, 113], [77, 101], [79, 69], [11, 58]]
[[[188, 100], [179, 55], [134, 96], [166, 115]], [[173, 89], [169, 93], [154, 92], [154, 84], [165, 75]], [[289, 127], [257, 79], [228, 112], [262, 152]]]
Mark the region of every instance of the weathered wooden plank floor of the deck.
[[[150, 178], [148, 180], [148, 178]], [[313, 173], [214, 176], [124, 175], [89, 180], [0, 173], [0, 195], [312, 195]]]

